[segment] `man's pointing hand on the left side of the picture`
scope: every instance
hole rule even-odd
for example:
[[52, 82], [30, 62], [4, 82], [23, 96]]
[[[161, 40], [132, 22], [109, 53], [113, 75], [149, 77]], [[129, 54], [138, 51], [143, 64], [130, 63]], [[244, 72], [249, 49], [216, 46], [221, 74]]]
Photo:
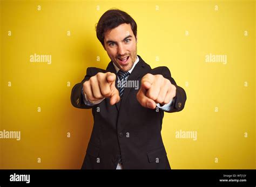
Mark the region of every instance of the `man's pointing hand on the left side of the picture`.
[[83, 84], [84, 94], [87, 100], [93, 103], [99, 99], [110, 98], [110, 104], [114, 105], [119, 102], [120, 96], [116, 86], [116, 74], [97, 73], [89, 81]]

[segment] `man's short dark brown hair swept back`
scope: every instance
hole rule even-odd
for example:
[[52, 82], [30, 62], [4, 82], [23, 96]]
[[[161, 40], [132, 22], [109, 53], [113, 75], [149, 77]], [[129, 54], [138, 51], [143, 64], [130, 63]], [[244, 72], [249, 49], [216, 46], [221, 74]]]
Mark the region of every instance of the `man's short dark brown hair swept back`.
[[99, 22], [96, 25], [97, 38], [104, 46], [104, 33], [116, 28], [121, 24], [130, 24], [132, 32], [136, 38], [137, 36], [137, 24], [134, 19], [126, 12], [119, 9], [107, 10], [102, 17], [99, 18]]

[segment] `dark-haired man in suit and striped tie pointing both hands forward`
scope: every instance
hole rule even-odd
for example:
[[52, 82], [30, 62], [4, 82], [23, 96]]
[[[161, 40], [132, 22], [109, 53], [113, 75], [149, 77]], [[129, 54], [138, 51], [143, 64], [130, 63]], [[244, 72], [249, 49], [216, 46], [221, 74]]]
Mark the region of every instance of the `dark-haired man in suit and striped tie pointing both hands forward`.
[[94, 119], [82, 169], [171, 169], [161, 125], [164, 111], [184, 108], [184, 89], [167, 67], [151, 69], [137, 55], [137, 24], [126, 12], [106, 11], [96, 32], [111, 62], [87, 68], [71, 92], [72, 105]]

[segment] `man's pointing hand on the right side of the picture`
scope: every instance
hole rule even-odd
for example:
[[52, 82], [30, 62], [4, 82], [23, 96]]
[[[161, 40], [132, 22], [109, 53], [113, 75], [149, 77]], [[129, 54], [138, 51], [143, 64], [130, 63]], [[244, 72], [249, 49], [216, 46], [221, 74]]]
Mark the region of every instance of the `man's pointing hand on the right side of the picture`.
[[163, 75], [146, 74], [142, 78], [142, 86], [137, 93], [138, 102], [149, 109], [155, 109], [156, 104], [170, 103], [176, 96], [176, 87]]

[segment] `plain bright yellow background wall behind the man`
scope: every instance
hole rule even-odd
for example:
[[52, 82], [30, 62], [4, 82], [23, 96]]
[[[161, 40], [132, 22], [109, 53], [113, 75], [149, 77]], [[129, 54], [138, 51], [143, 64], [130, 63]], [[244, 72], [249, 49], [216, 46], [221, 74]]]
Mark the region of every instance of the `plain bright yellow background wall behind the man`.
[[[136, 20], [138, 54], [169, 67], [187, 93], [185, 109], [164, 117], [171, 168], [255, 169], [255, 1], [120, 0], [1, 1], [0, 131], [21, 131], [21, 140], [0, 139], [0, 169], [82, 166], [93, 120], [70, 93], [87, 67], [110, 62], [95, 31], [110, 8]], [[35, 53], [51, 64], [31, 63]], [[205, 62], [210, 53], [227, 64]], [[197, 140], [175, 138], [179, 130], [197, 131]]]

